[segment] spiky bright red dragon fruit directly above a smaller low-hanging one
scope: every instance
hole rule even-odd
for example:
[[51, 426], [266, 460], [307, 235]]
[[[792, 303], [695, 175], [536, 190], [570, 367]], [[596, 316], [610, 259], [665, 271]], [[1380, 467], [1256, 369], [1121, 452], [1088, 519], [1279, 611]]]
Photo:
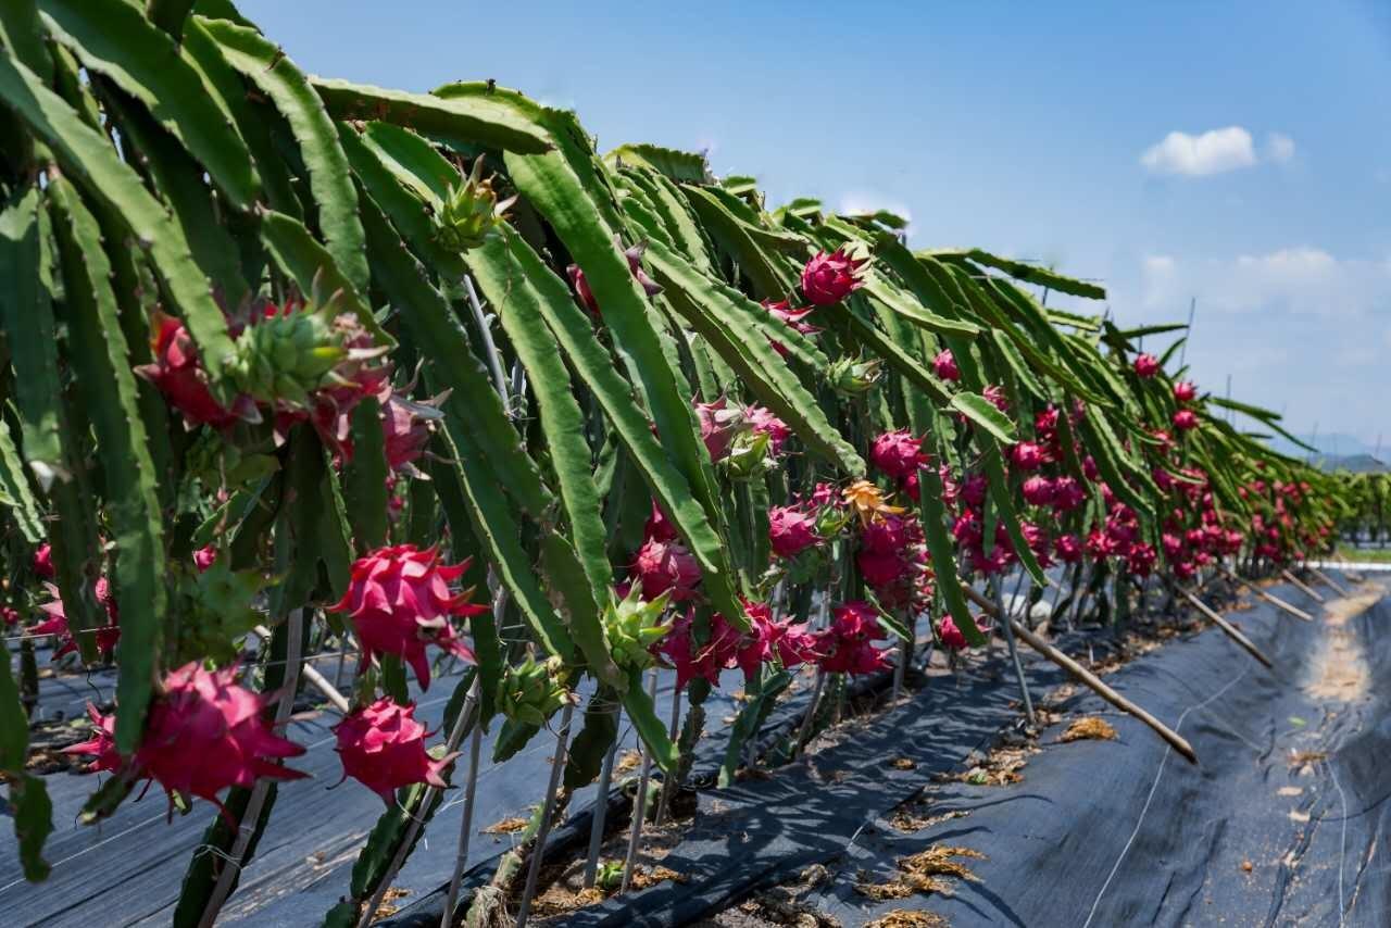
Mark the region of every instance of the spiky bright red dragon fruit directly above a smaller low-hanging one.
[[362, 643], [366, 664], [377, 654], [396, 654], [415, 672], [420, 689], [430, 689], [426, 646], [434, 644], [466, 661], [473, 653], [459, 640], [452, 616], [479, 615], [484, 605], [469, 601], [473, 590], [451, 593], [469, 561], [447, 565], [434, 548], [413, 544], [377, 548], [352, 565], [348, 591], [330, 612], [346, 612]]

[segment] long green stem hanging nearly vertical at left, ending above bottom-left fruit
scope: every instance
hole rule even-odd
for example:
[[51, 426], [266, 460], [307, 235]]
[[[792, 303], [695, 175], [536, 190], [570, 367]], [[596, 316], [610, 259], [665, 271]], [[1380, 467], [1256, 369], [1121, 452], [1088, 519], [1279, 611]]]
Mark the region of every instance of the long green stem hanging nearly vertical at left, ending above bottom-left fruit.
[[96, 431], [115, 530], [115, 584], [121, 597], [115, 743], [129, 754], [145, 723], [164, 625], [163, 518], [100, 228], [67, 178], [54, 178], [47, 193], [63, 256], [68, 339], [82, 370], [78, 388]]

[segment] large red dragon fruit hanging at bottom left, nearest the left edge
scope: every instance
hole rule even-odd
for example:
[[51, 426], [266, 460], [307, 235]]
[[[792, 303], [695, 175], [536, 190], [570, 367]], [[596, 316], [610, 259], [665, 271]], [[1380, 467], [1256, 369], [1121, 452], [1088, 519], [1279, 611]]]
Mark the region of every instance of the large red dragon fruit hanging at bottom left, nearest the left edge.
[[[150, 704], [145, 739], [129, 761], [135, 775], [153, 779], [172, 797], [198, 796], [221, 808], [217, 794], [228, 786], [250, 787], [262, 776], [299, 779], [300, 771], [277, 764], [305, 749], [280, 737], [262, 715], [277, 694], [235, 683], [236, 668], [206, 671], [198, 662], [170, 672]], [[89, 708], [96, 730], [72, 754], [93, 754], [93, 771], [124, 765], [115, 753], [115, 717]], [[225, 814], [225, 810], [224, 810]]]

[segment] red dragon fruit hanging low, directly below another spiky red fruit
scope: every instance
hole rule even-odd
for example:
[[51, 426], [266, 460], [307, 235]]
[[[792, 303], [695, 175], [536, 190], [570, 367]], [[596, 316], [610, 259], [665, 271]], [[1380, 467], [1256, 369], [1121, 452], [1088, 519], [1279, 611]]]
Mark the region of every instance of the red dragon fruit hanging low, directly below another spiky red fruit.
[[412, 783], [444, 787], [441, 772], [458, 754], [434, 760], [426, 753], [426, 726], [415, 718], [415, 703], [383, 697], [344, 717], [334, 726], [344, 778], [352, 776], [391, 806], [395, 792]]

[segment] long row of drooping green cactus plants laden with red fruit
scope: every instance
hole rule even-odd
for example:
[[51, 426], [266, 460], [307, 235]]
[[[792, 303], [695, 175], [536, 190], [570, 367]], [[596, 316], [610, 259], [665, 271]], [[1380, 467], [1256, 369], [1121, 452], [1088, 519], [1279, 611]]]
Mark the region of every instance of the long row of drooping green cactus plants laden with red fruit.
[[[601, 156], [492, 82], [312, 77], [227, 0], [15, 0], [0, 40], [0, 595], [29, 655], [0, 662], [0, 769], [31, 879], [47, 636], [60, 669], [118, 671], [74, 749], [108, 774], [82, 819], [149, 781], [216, 810], [181, 925], [298, 776], [303, 658], [351, 641], [337, 747], [388, 806], [328, 913], [353, 924], [465, 737], [568, 735], [581, 678], [558, 789], [600, 775], [613, 705], [679, 779], [739, 668], [729, 775], [800, 665], [819, 691], [901, 665], [896, 639], [983, 644], [963, 582], [1042, 594], [1061, 565], [1114, 619], [1152, 576], [1321, 551], [1341, 512], [1214, 409], [1278, 416], [1202, 394], [1181, 339], [1139, 351], [1181, 327], [1046, 305], [1093, 284], [769, 209], [696, 154]], [[431, 736], [409, 680], [445, 658], [470, 669]]]

